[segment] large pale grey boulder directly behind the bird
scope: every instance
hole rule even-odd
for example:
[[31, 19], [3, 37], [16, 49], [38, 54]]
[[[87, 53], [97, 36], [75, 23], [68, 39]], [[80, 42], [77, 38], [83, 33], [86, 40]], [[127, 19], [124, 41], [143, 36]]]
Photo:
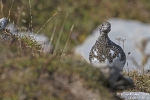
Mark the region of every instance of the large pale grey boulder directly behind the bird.
[[[150, 67], [150, 24], [144, 24], [135, 20], [123, 20], [112, 18], [108, 22], [111, 23], [112, 29], [108, 34], [110, 39], [119, 44], [127, 55], [126, 70], [146, 69]], [[89, 52], [99, 36], [98, 26], [91, 35], [83, 42], [83, 44], [75, 47], [75, 52], [81, 55], [89, 62]], [[118, 41], [120, 39], [120, 41]], [[124, 42], [124, 43], [123, 43]], [[129, 55], [128, 55], [129, 54]]]

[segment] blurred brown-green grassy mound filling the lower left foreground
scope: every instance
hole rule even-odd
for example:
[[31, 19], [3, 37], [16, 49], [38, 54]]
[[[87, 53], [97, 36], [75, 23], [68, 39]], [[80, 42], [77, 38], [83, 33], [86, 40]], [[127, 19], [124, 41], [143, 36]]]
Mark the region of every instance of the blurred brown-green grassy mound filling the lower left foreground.
[[75, 55], [44, 55], [29, 37], [10, 40], [0, 43], [1, 100], [77, 100], [89, 93], [98, 100], [115, 100], [100, 71]]

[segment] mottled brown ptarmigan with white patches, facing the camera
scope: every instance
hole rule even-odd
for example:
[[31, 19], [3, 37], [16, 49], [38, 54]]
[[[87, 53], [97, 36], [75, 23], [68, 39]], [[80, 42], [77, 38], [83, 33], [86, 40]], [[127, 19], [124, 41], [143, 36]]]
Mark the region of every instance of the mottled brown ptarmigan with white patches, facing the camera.
[[99, 29], [100, 36], [89, 54], [90, 62], [95, 65], [106, 63], [110, 67], [115, 66], [122, 70], [126, 62], [126, 55], [123, 49], [108, 37], [111, 24], [109, 22], [103, 22]]

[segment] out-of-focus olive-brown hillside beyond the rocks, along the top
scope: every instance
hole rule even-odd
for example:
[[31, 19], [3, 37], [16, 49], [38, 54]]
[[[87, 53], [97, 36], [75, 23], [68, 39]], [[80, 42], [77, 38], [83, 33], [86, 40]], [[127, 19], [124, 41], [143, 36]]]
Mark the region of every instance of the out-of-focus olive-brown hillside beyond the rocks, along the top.
[[[2, 0], [1, 17], [7, 17], [13, 0]], [[149, 0], [31, 0], [33, 31], [36, 33], [44, 23], [57, 13], [40, 33], [51, 37], [57, 22], [54, 42], [66, 18], [60, 44], [66, 43], [69, 30], [74, 25], [71, 34], [71, 46], [82, 43], [95, 27], [101, 22], [115, 17], [134, 19], [145, 23], [150, 22]], [[31, 22], [30, 5], [28, 0], [14, 0], [10, 12], [10, 21], [19, 27], [29, 27]], [[60, 48], [61, 48], [60, 46]]]

